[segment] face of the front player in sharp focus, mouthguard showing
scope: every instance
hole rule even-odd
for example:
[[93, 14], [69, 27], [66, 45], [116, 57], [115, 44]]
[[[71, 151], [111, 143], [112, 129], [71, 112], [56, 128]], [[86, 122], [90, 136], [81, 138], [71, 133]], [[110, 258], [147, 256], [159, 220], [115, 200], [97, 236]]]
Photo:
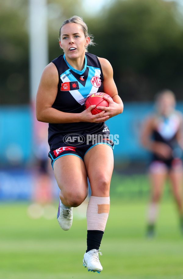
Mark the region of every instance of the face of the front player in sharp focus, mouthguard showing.
[[85, 37], [82, 26], [77, 23], [63, 25], [60, 35], [60, 47], [64, 50], [66, 57], [77, 59], [85, 54], [85, 46], [90, 42], [89, 37]]

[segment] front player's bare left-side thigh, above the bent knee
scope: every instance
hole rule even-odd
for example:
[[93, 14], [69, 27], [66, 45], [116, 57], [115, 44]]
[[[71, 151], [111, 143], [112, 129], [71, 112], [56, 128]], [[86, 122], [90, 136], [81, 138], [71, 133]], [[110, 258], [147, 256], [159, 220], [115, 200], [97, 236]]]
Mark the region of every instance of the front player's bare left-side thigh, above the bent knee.
[[87, 173], [81, 158], [66, 155], [58, 158], [53, 165], [57, 184], [64, 194], [88, 191]]

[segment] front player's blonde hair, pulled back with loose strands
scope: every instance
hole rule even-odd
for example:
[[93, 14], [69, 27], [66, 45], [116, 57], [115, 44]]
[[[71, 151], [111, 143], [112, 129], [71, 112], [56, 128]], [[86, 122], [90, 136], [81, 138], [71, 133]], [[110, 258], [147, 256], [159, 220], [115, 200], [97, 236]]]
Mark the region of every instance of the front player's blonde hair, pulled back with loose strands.
[[[77, 23], [80, 24], [83, 32], [84, 32], [84, 36], [85, 38], [90, 37], [90, 43], [88, 44], [88, 46], [95, 46], [95, 43], [93, 41], [94, 36], [88, 33], [88, 26], [86, 25], [86, 23], [83, 21], [82, 17], [78, 17], [78, 16], [72, 16], [69, 19], [66, 19], [62, 26], [60, 27], [60, 32], [59, 32], [59, 37], [61, 35], [61, 29], [63, 27], [63, 25], [67, 24], [67, 23]], [[88, 46], [85, 46], [85, 51], [88, 52]]]

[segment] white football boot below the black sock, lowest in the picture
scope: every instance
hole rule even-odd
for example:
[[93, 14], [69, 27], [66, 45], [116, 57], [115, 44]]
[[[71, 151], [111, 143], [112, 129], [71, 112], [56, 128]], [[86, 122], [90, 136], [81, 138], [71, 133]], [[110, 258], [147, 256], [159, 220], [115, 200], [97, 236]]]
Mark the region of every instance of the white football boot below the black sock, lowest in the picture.
[[102, 256], [102, 253], [99, 250], [92, 249], [84, 254], [83, 266], [88, 268], [88, 271], [93, 271], [100, 273], [102, 271], [102, 266], [99, 261], [99, 254]]

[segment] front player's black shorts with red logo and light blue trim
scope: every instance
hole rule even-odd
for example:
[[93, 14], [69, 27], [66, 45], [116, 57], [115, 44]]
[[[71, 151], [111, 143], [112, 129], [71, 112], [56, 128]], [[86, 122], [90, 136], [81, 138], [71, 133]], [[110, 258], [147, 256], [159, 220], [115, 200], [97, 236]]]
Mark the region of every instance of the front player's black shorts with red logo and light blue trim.
[[52, 168], [56, 159], [65, 155], [74, 155], [83, 160], [88, 150], [98, 144], [107, 144], [112, 149], [114, 148], [114, 143], [109, 138], [109, 130], [107, 127], [102, 132], [92, 135], [88, 133], [70, 133], [62, 136], [59, 147], [51, 149], [48, 154], [48, 157], [51, 159]]

